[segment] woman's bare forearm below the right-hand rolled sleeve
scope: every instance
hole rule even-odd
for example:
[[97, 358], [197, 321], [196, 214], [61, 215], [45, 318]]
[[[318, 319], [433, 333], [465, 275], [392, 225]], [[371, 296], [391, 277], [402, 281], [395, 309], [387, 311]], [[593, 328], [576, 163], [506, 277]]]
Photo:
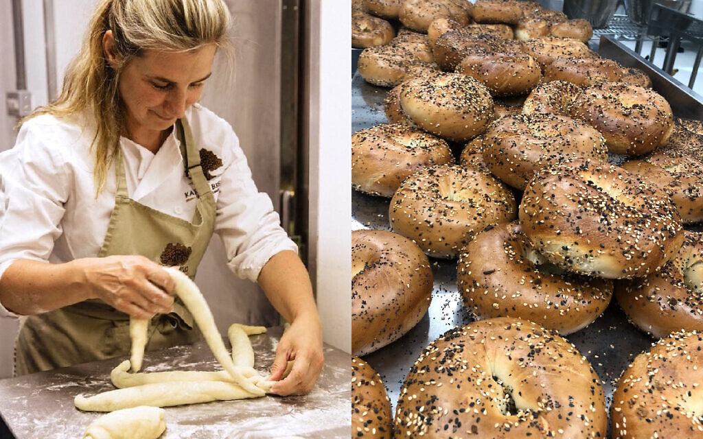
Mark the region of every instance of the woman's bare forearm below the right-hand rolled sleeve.
[[285, 320], [304, 315], [318, 319], [310, 277], [295, 251], [280, 251], [269, 259], [258, 279], [266, 297]]

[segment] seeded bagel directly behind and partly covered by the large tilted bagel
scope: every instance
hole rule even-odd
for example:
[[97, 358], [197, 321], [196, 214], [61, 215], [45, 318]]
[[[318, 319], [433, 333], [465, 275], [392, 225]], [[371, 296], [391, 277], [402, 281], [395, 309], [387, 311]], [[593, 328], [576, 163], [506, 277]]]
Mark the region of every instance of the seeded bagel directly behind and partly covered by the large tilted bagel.
[[607, 160], [605, 139], [580, 121], [558, 114], [501, 117], [484, 133], [483, 159], [503, 183], [524, 190], [540, 169], [568, 159]]

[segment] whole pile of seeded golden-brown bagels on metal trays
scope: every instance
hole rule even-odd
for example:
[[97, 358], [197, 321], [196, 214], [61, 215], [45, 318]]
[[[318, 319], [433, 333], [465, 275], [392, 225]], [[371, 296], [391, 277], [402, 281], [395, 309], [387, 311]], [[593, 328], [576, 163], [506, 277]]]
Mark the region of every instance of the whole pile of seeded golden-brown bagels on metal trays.
[[354, 355], [427, 313], [431, 258], [457, 261], [477, 320], [427, 347], [394, 419], [355, 368], [382, 408], [353, 409], [354, 435], [605, 437], [600, 379], [562, 336], [614, 296], [660, 341], [621, 376], [612, 437], [703, 438], [703, 124], [533, 1], [360, 0], [352, 22], [359, 74], [388, 89], [352, 185], [393, 230], [352, 232]]

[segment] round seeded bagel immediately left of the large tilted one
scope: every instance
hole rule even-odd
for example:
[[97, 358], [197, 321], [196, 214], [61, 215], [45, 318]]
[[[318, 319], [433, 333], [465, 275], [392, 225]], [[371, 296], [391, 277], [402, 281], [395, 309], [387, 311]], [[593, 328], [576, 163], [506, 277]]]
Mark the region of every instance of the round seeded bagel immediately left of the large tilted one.
[[434, 166], [408, 177], [391, 199], [396, 233], [429, 256], [455, 258], [486, 226], [515, 218], [515, 196], [493, 176], [461, 166]]

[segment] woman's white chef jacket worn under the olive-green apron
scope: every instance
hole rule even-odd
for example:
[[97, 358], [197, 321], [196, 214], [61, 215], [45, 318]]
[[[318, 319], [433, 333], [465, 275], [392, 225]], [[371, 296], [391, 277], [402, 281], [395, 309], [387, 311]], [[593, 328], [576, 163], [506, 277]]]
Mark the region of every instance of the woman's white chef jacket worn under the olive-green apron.
[[[198, 150], [222, 161], [209, 173], [217, 201], [214, 231], [224, 242], [228, 266], [238, 277], [257, 281], [269, 258], [297, 251], [280, 227], [268, 195], [252, 180], [247, 159], [230, 124], [201, 105], [186, 112]], [[98, 256], [115, 208], [115, 167], [96, 197], [86, 119], [50, 114], [22, 124], [14, 148], [0, 153], [0, 277], [14, 261], [64, 263]], [[156, 154], [120, 138], [129, 197], [165, 214], [192, 221], [195, 187], [183, 172], [175, 133]], [[0, 316], [16, 315], [0, 305]]]

